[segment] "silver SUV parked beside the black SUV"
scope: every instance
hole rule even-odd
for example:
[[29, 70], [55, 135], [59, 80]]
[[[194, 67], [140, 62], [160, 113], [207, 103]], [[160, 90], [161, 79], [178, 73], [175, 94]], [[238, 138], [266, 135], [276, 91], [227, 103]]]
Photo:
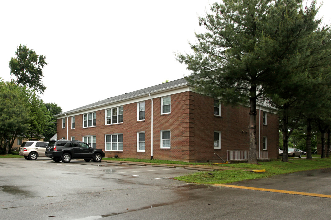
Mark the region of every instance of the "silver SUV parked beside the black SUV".
[[19, 155], [26, 160], [36, 160], [38, 157], [46, 157], [45, 149], [48, 142], [45, 141], [24, 141], [20, 147]]

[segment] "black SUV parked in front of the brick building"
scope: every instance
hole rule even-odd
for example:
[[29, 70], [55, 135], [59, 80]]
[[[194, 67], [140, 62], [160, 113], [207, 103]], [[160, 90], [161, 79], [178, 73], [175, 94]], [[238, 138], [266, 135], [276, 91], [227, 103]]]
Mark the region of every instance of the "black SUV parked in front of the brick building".
[[71, 159], [84, 159], [86, 162], [94, 160], [101, 162], [105, 157], [102, 149], [90, 147], [87, 143], [73, 140], [52, 140], [49, 141], [46, 151], [46, 157], [50, 157], [54, 162], [69, 163]]

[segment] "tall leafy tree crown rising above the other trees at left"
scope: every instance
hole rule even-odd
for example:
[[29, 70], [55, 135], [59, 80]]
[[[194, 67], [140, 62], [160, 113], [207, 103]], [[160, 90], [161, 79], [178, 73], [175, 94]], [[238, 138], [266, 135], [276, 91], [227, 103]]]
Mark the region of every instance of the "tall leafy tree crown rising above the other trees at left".
[[16, 57], [12, 57], [9, 61], [10, 75], [16, 77], [16, 83], [19, 86], [25, 85], [43, 94], [46, 87], [41, 79], [43, 77], [42, 69], [48, 65], [45, 60], [46, 57], [38, 55], [25, 45], [20, 45], [15, 54]]

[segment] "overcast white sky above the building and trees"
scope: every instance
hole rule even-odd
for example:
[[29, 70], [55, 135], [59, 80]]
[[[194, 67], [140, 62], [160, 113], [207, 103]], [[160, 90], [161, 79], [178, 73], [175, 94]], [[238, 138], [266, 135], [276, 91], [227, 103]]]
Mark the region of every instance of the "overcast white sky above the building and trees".
[[[175, 53], [191, 53], [203, 33], [198, 17], [214, 0], [11, 0], [0, 2], [0, 77], [26, 45], [46, 56], [41, 99], [69, 111], [181, 79], [190, 72]], [[322, 0], [317, 0], [318, 4]], [[331, 1], [319, 10], [331, 23]]]

